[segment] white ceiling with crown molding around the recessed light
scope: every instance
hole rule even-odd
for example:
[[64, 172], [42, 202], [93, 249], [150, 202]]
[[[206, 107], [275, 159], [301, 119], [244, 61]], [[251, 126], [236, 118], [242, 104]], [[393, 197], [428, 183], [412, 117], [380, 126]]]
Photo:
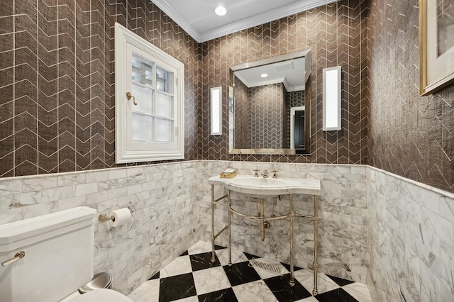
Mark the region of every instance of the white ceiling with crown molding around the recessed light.
[[[151, 0], [199, 43], [338, 0]], [[214, 9], [222, 5], [224, 16]]]

